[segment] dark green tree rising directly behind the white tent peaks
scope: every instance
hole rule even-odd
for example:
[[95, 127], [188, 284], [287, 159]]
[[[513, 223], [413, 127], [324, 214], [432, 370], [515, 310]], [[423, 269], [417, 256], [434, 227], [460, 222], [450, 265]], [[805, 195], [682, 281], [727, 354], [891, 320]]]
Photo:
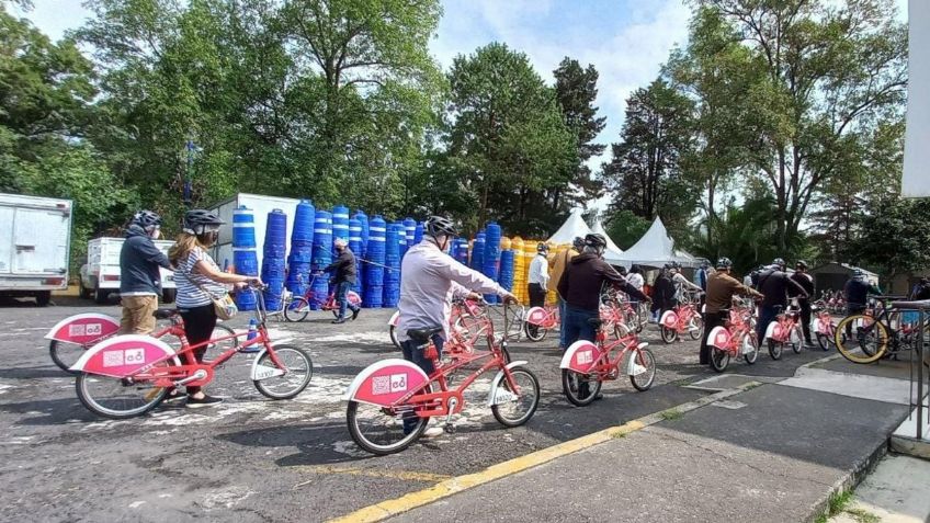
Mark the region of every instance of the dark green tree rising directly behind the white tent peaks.
[[696, 191], [682, 169], [692, 147], [692, 102], [665, 80], [637, 89], [626, 101], [621, 141], [601, 178], [613, 192], [611, 212], [628, 209], [670, 228], [682, 227], [693, 214]]

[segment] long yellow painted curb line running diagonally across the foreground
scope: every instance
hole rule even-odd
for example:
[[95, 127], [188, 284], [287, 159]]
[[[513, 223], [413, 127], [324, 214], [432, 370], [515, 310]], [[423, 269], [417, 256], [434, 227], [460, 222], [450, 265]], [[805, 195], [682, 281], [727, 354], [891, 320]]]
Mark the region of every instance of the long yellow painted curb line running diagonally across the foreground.
[[668, 412], [671, 410], [674, 410], [680, 413], [689, 412], [705, 405], [713, 403], [714, 401], [742, 393], [747, 388], [757, 387], [759, 385], [761, 385], [759, 382], [750, 382], [734, 389], [704, 396], [702, 398], [695, 399], [694, 401], [688, 401], [679, 406], [664, 409], [659, 412], [655, 412], [649, 416], [628, 421], [622, 425], [603, 429], [598, 432], [577, 437], [575, 440], [569, 440], [553, 445], [551, 447], [526, 454], [525, 456], [514, 457], [513, 459], [508, 459], [507, 462], [501, 462], [497, 465], [491, 465], [490, 467], [474, 474], [466, 474], [463, 476], [456, 476], [453, 478], [445, 479], [423, 490], [410, 492], [408, 494], [392, 500], [382, 501], [379, 503], [359, 509], [355, 512], [345, 514], [341, 518], [329, 520], [329, 523], [370, 523], [382, 521], [387, 518], [392, 518], [404, 512], [410, 511], [418, 507], [423, 507], [433, 503], [443, 498], [447, 498], [452, 494], [468, 490], [473, 487], [489, 484], [491, 481], [512, 476], [517, 473], [521, 473], [523, 470], [528, 470], [530, 468], [546, 464], [556, 458], [567, 456], [569, 454], [574, 454], [586, 448], [590, 448], [594, 445], [605, 443], [617, 437], [623, 437], [626, 434], [636, 432], [638, 430], [645, 429], [646, 427], [664, 421], [665, 418], [661, 416], [662, 412]]

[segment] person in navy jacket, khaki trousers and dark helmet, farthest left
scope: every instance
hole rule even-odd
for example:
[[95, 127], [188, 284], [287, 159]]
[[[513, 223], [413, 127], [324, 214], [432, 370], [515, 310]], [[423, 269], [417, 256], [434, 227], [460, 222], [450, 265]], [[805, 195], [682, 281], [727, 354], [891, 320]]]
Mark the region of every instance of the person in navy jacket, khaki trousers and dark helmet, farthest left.
[[161, 271], [171, 262], [155, 241], [161, 235], [161, 217], [151, 211], [133, 216], [120, 249], [120, 297], [123, 318], [121, 334], [150, 334], [155, 330], [155, 311], [161, 296]]

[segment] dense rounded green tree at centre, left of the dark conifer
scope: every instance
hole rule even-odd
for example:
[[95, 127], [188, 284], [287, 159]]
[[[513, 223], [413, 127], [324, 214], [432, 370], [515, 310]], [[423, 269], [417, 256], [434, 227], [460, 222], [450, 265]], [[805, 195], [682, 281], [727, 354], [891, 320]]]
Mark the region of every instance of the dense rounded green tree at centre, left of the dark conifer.
[[449, 161], [478, 204], [469, 226], [497, 219], [528, 234], [547, 231], [562, 216], [540, 204], [567, 186], [577, 164], [555, 91], [526, 55], [498, 43], [456, 57], [449, 83]]

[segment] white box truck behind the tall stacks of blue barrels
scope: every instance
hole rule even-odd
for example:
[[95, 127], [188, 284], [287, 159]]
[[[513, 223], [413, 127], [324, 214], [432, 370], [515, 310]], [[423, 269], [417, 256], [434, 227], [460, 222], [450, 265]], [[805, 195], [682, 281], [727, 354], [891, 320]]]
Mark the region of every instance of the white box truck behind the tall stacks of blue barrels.
[[213, 248], [213, 259], [220, 269], [225, 269], [225, 264], [232, 264], [232, 211], [245, 205], [249, 207], [256, 215], [256, 243], [259, 259], [259, 266], [262, 261], [262, 247], [264, 246], [264, 229], [268, 225], [268, 213], [280, 208], [287, 215], [287, 241], [291, 241], [291, 230], [294, 228], [294, 213], [297, 209], [299, 200], [286, 198], [280, 196], [262, 196], [260, 194], [239, 193], [231, 198], [211, 207], [211, 211], [217, 214], [226, 225], [219, 229], [219, 238], [216, 246]]

